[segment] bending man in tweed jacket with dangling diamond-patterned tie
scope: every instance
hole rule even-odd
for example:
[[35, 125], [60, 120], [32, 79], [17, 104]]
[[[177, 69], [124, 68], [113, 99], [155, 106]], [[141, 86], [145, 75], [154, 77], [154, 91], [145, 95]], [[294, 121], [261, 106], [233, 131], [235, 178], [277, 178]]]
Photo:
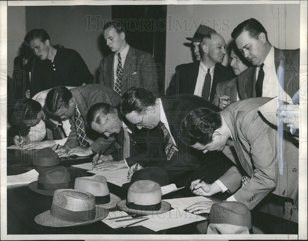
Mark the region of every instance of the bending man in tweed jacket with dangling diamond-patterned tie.
[[[108, 103], [116, 106], [120, 102], [120, 95], [107, 86], [89, 84], [68, 90], [64, 86], [52, 88], [46, 98], [46, 109], [50, 114], [61, 119], [69, 119], [71, 133], [64, 146], [55, 152], [68, 155], [88, 156], [103, 150], [113, 151], [119, 148], [113, 137], [103, 138], [95, 136], [85, 125], [89, 108], [95, 103]], [[93, 140], [91, 140], [93, 139]], [[93, 142], [94, 141], [94, 142]], [[91, 145], [90, 145], [91, 143]]]

